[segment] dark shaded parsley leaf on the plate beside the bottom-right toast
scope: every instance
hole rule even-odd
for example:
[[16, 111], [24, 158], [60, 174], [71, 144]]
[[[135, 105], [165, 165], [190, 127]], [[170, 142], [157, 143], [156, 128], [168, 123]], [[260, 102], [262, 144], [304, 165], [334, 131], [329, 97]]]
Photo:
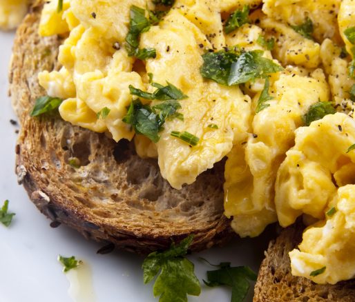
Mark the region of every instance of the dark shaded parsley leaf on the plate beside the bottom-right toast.
[[219, 270], [207, 272], [207, 286], [228, 285], [232, 288], [231, 302], [242, 302], [247, 296], [250, 281], [256, 281], [257, 275], [247, 266], [231, 268], [231, 263], [224, 262], [218, 266]]

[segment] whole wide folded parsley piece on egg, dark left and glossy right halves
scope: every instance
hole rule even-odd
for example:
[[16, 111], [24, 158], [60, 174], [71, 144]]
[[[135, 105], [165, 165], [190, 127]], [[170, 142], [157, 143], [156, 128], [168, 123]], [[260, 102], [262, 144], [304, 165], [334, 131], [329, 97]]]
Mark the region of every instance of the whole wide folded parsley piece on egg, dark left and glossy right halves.
[[222, 85], [238, 85], [257, 78], [265, 78], [268, 74], [283, 70], [271, 59], [262, 57], [262, 50], [242, 52], [220, 50], [207, 52], [202, 56], [202, 77], [211, 79]]

